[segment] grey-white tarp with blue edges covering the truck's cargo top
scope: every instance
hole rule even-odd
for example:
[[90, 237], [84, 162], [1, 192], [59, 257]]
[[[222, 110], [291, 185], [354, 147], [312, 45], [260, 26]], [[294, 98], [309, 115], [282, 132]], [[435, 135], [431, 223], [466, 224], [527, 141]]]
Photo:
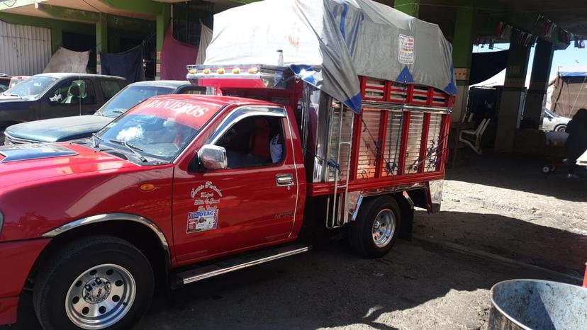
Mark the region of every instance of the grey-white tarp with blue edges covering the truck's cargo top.
[[371, 0], [265, 0], [214, 16], [210, 65], [284, 64], [359, 112], [358, 76], [457, 92], [438, 25]]

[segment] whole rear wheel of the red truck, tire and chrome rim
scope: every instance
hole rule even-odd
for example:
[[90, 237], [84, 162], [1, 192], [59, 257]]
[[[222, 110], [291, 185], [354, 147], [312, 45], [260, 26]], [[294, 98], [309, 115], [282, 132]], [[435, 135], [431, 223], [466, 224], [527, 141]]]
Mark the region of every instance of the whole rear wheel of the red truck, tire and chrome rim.
[[382, 196], [367, 200], [357, 220], [349, 226], [352, 248], [364, 256], [384, 256], [396, 243], [401, 227], [401, 212], [396, 200]]

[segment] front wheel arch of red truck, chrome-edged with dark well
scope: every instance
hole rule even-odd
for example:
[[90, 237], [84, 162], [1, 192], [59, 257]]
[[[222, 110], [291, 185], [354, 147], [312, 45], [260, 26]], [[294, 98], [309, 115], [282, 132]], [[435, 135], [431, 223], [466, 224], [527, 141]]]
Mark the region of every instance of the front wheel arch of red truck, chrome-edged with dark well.
[[138, 215], [111, 213], [75, 220], [43, 234], [43, 237], [52, 239], [33, 264], [26, 285], [34, 283], [35, 275], [43, 261], [59, 251], [62, 246], [75, 239], [95, 235], [110, 235], [133, 244], [147, 256], [156, 279], [167, 280], [172, 255], [169, 241], [157, 224]]

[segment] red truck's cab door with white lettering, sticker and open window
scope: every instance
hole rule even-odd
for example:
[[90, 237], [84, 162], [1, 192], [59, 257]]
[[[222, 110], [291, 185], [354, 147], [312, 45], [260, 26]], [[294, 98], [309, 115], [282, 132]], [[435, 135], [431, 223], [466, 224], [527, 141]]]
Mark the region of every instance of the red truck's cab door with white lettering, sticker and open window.
[[[207, 141], [226, 149], [228, 168], [174, 176], [178, 261], [288, 239], [298, 193], [284, 108], [237, 108]], [[290, 143], [286, 143], [290, 141]]]

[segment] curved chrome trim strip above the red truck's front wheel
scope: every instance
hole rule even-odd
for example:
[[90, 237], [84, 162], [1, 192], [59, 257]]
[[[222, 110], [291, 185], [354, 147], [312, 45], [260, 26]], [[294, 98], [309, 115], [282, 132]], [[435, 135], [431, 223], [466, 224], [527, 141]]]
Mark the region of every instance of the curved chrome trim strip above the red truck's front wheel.
[[75, 220], [67, 224], [63, 224], [61, 227], [52, 229], [49, 232], [45, 232], [45, 234], [43, 234], [43, 237], [57, 237], [57, 235], [59, 234], [68, 232], [71, 229], [82, 227], [86, 224], [95, 224], [99, 222], [116, 220], [138, 222], [140, 224], [145, 224], [145, 226], [149, 227], [153, 232], [155, 232], [155, 234], [157, 234], [157, 237], [159, 237], [161, 245], [167, 253], [167, 261], [171, 262], [171, 250], [169, 249], [169, 243], [167, 242], [165, 235], [157, 226], [157, 224], [155, 224], [155, 222], [152, 222], [151, 220], [148, 220], [145, 217], [141, 217], [140, 215], [131, 215], [129, 213], [108, 213], [105, 215], [92, 215], [91, 217], [84, 217], [82, 219]]

